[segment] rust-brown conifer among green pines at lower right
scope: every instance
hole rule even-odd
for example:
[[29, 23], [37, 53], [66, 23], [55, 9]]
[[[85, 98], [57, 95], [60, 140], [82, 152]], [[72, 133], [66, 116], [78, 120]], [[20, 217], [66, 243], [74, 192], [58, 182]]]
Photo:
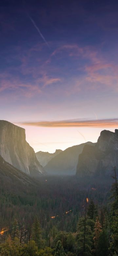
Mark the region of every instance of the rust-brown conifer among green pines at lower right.
[[93, 237], [95, 251], [96, 251], [97, 246], [98, 246], [98, 241], [99, 241], [99, 237], [100, 237], [101, 232], [102, 232], [102, 226], [100, 224], [99, 218], [97, 217], [96, 222], [95, 222], [95, 226], [94, 226], [94, 237]]

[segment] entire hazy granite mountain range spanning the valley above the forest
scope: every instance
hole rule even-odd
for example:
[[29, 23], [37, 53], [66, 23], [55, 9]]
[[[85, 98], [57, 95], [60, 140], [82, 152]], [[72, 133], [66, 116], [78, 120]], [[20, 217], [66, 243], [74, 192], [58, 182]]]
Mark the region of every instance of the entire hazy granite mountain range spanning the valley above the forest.
[[103, 130], [96, 143], [86, 142], [64, 151], [56, 150], [53, 154], [42, 151], [35, 154], [26, 141], [25, 129], [0, 120], [0, 161], [12, 175], [18, 171], [20, 176], [25, 173], [32, 177], [46, 174], [110, 175], [113, 167], [116, 166], [117, 170], [118, 166], [118, 130]]

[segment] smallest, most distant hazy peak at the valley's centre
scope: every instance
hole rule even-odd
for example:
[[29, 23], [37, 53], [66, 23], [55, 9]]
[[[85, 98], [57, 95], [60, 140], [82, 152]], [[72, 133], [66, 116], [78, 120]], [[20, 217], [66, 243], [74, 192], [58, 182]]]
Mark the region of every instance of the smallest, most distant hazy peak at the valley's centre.
[[36, 157], [37, 160], [44, 167], [53, 157], [57, 156], [60, 152], [62, 152], [61, 149], [56, 149], [54, 153], [38, 151], [36, 152]]

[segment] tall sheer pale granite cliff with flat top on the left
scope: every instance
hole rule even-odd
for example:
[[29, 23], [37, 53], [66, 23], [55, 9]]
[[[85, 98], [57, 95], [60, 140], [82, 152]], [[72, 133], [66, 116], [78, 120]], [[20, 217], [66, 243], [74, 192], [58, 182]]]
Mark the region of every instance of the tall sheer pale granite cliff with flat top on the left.
[[4, 120], [0, 120], [0, 155], [31, 176], [44, 173], [33, 148], [26, 141], [25, 129]]

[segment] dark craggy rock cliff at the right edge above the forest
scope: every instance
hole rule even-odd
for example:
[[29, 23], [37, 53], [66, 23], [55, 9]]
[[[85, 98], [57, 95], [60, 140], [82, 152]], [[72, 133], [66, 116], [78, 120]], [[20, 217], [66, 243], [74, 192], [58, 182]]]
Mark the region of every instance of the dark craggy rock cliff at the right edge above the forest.
[[76, 174], [79, 176], [110, 175], [118, 167], [118, 130], [100, 133], [97, 143], [85, 145], [79, 155]]

